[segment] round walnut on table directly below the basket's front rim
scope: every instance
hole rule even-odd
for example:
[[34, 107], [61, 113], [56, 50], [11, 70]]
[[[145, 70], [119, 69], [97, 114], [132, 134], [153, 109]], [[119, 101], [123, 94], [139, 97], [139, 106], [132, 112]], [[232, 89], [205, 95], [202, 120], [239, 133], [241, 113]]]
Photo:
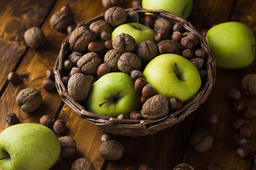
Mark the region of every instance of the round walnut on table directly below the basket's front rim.
[[99, 153], [106, 160], [117, 160], [122, 157], [124, 147], [116, 140], [107, 140], [101, 144]]

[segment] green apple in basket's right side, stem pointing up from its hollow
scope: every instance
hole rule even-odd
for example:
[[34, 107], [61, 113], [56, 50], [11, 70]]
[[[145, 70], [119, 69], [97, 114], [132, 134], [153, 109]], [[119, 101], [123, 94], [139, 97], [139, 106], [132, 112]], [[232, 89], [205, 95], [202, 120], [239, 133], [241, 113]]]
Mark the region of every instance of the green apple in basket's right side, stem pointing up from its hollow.
[[157, 94], [163, 94], [168, 99], [179, 98], [183, 103], [193, 100], [201, 88], [197, 68], [188, 59], [176, 54], [162, 54], [152, 59], [143, 76]]

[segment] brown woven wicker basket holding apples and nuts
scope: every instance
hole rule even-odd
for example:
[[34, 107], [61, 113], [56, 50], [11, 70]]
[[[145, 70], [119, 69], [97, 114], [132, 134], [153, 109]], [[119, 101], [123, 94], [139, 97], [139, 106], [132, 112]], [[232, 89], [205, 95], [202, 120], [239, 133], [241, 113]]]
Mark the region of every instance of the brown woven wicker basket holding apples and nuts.
[[[129, 8], [126, 12], [130, 10], [137, 11], [140, 16], [144, 16], [146, 12], [153, 13], [154, 17], [161, 17], [171, 20], [174, 23], [181, 23], [183, 27], [196, 34], [200, 39], [200, 45], [202, 49], [207, 51], [207, 78], [204, 83], [202, 83], [201, 91], [197, 97], [192, 101], [183, 106], [182, 109], [177, 110], [171, 114], [167, 114], [164, 117], [157, 119], [143, 119], [143, 120], [133, 120], [133, 119], [115, 119], [109, 116], [94, 114], [90, 111], [85, 110], [81, 104], [75, 102], [67, 93], [65, 85], [61, 81], [61, 75], [63, 72], [63, 61], [67, 58], [69, 49], [69, 36], [62, 42], [62, 47], [59, 56], [54, 65], [55, 80], [58, 93], [60, 94], [62, 100], [75, 111], [79, 117], [91, 122], [92, 124], [106, 130], [110, 133], [124, 136], [145, 136], [154, 135], [156, 132], [171, 127], [174, 124], [182, 121], [186, 116], [195, 111], [199, 106], [207, 99], [209, 96], [216, 79], [216, 66], [215, 61], [211, 57], [209, 46], [204, 37], [195, 30], [195, 28], [186, 20], [176, 17], [173, 14], [166, 12], [164, 10], [147, 10], [142, 8]], [[92, 17], [85, 21], [78, 23], [77, 27], [89, 26], [92, 22], [99, 19], [104, 19], [104, 14]]]

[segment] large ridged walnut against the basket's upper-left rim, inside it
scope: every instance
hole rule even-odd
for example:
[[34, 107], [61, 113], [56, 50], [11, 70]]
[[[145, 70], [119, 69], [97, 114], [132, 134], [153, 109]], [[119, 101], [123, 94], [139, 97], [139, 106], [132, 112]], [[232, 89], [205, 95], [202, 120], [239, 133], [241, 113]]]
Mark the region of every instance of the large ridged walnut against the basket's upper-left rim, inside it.
[[86, 51], [90, 42], [96, 40], [96, 35], [87, 26], [76, 28], [69, 37], [70, 49], [73, 51]]

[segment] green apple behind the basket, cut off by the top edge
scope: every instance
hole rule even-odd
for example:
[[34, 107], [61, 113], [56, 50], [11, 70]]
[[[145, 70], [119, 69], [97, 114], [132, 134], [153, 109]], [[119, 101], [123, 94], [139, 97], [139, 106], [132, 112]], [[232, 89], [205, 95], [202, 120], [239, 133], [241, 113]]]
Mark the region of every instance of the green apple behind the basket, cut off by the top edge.
[[164, 9], [184, 19], [189, 17], [192, 6], [193, 0], [142, 0], [145, 9]]

